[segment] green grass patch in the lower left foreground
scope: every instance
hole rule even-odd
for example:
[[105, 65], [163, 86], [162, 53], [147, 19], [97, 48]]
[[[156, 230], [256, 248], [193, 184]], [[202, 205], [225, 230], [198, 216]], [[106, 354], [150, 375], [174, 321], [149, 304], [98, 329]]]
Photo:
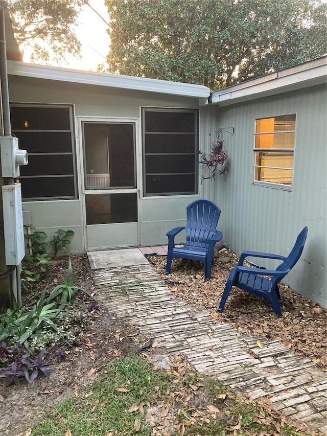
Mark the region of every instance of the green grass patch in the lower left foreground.
[[[134, 356], [113, 360], [104, 380], [89, 385], [79, 397], [57, 405], [49, 419], [33, 429], [32, 435], [62, 436], [68, 428], [73, 436], [100, 436], [111, 429], [122, 436], [149, 435], [150, 427], [142, 424], [141, 411], [128, 409], [151, 401], [158, 395], [157, 386], [161, 392], [167, 390], [166, 376], [151, 370], [143, 359]], [[116, 391], [117, 388], [128, 392]], [[137, 432], [136, 419], [141, 422]]]

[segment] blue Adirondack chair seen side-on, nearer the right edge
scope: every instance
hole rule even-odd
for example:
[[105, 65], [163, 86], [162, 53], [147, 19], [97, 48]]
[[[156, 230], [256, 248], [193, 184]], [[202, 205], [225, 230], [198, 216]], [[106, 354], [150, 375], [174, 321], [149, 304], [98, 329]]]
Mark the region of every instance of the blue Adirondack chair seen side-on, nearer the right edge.
[[[223, 296], [218, 308], [222, 312], [227, 297], [232, 286], [243, 289], [250, 294], [259, 295], [266, 299], [272, 306], [275, 313], [282, 317], [281, 305], [279, 299], [278, 283], [293, 268], [301, 256], [308, 234], [308, 227], [304, 227], [298, 235], [291, 253], [287, 256], [273, 255], [269, 253], [259, 253], [258, 251], [243, 251], [238, 265], [230, 271], [228, 280], [225, 285]], [[264, 268], [251, 268], [243, 266], [244, 259], [247, 257], [258, 257], [266, 259], [277, 259], [283, 261], [275, 270]], [[263, 276], [270, 276], [269, 279]]]

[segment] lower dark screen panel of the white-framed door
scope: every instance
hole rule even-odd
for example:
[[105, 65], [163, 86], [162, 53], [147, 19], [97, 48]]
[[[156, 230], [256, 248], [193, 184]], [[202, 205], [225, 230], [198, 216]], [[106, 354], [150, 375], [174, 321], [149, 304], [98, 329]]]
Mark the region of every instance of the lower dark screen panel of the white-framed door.
[[137, 222], [137, 194], [89, 194], [85, 196], [86, 224]]

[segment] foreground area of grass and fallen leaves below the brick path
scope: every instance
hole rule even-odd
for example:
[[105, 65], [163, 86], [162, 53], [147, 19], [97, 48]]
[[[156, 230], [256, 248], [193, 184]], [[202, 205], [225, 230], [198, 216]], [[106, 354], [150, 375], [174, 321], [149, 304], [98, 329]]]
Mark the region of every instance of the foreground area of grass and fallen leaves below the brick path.
[[[33, 428], [31, 436], [64, 436], [68, 429], [72, 436], [150, 436], [154, 433], [146, 414], [153, 406], [158, 407], [153, 429], [164, 423], [172, 429], [172, 436], [274, 435], [276, 426], [282, 436], [314, 434], [292, 426], [265, 403], [251, 401], [211, 377], [198, 375], [180, 359], [176, 362], [170, 373], [154, 370], [140, 356], [113, 360], [101, 381], [58, 404]], [[168, 407], [168, 416], [162, 415], [162, 407]], [[135, 420], [139, 429], [134, 428]]]

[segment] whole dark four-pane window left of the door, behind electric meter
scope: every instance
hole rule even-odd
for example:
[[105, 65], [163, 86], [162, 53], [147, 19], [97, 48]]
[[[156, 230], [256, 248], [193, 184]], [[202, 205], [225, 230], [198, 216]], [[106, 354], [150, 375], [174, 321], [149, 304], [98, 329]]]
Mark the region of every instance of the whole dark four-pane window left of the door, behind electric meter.
[[77, 198], [72, 107], [11, 105], [11, 128], [29, 154], [20, 167], [23, 200]]

